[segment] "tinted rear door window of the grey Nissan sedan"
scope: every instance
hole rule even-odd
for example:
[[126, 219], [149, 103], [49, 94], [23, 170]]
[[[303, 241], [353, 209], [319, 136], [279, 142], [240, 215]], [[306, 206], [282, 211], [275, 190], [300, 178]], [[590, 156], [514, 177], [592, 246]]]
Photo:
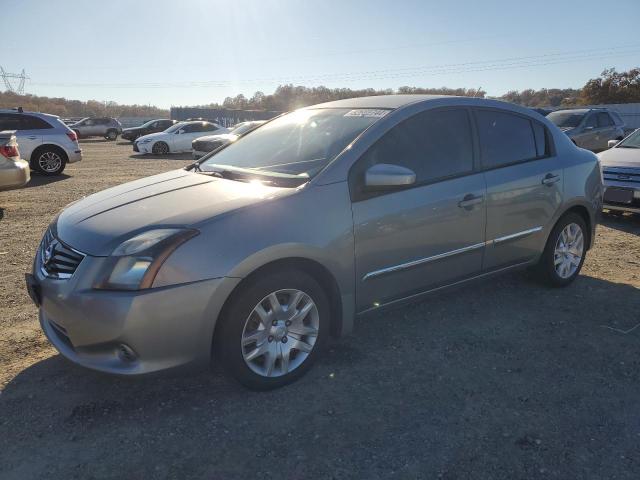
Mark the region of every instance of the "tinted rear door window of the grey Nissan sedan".
[[485, 168], [496, 168], [538, 157], [531, 121], [496, 110], [477, 110], [480, 158]]

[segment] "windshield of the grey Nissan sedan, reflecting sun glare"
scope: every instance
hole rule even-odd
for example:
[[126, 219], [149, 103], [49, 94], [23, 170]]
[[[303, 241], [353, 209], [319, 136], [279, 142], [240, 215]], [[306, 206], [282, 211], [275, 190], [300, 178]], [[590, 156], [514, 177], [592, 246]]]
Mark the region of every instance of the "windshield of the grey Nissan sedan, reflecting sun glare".
[[379, 109], [306, 109], [283, 115], [207, 156], [203, 171], [230, 166], [261, 174], [312, 177], [369, 125], [388, 113]]

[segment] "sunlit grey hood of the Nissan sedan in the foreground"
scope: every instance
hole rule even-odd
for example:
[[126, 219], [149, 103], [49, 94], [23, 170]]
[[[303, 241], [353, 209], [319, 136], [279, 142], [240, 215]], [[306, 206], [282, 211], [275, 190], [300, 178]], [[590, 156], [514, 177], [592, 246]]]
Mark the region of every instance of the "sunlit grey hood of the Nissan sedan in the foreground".
[[106, 256], [141, 231], [168, 226], [197, 228], [218, 215], [296, 191], [174, 170], [71, 204], [58, 217], [57, 234], [76, 250]]

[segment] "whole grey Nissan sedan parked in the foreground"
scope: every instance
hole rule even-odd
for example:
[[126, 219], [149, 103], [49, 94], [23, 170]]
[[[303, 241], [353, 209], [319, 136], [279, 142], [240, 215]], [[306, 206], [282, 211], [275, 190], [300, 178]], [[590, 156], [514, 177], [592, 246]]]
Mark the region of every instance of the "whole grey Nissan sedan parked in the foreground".
[[269, 389], [356, 314], [527, 266], [570, 284], [601, 207], [596, 156], [527, 108], [339, 100], [72, 204], [27, 287], [49, 341], [80, 365], [136, 375], [213, 354]]

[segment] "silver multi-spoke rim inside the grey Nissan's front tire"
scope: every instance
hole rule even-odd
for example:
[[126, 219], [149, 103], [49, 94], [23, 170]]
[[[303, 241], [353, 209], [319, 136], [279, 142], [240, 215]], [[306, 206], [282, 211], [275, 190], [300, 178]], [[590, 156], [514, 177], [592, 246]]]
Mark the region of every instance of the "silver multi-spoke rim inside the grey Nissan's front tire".
[[318, 307], [306, 293], [278, 290], [264, 297], [245, 321], [242, 357], [263, 377], [280, 377], [300, 367], [318, 338]]

